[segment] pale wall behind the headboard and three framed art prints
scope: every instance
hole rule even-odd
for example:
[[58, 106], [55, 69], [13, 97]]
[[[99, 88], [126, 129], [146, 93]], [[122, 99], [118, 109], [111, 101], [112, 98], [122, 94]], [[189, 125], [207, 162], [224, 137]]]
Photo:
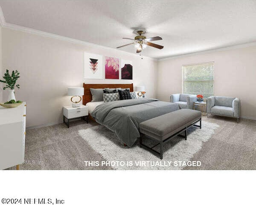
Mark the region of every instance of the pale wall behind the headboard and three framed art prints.
[[[106, 49], [56, 40], [40, 35], [2, 29], [3, 68], [20, 71], [16, 99], [27, 102], [27, 126], [62, 121], [62, 106], [69, 105], [68, 87], [83, 83], [134, 83], [145, 85], [148, 97], [156, 97], [157, 61], [115, 49]], [[86, 80], [84, 52], [118, 57], [133, 62], [134, 80]], [[3, 100], [7, 91], [3, 92]]]

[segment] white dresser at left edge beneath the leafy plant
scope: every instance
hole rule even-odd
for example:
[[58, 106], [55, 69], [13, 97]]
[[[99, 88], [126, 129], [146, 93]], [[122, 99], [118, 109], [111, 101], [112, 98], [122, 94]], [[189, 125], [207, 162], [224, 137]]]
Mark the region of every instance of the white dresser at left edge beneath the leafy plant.
[[26, 103], [17, 108], [0, 106], [0, 170], [24, 162]]

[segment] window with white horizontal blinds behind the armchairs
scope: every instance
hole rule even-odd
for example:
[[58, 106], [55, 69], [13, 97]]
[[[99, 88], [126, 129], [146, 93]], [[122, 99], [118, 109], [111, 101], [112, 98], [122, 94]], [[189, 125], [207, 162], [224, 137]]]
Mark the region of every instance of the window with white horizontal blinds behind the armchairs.
[[183, 93], [214, 95], [214, 62], [183, 65]]

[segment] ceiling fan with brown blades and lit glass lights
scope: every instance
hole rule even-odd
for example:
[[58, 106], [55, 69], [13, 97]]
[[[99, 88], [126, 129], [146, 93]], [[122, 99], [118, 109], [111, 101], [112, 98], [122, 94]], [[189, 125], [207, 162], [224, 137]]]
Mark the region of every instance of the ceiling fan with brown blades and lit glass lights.
[[154, 40], [163, 40], [161, 37], [156, 36], [156, 37], [147, 38], [147, 37], [143, 36], [143, 34], [145, 34], [145, 32], [146, 32], [145, 29], [135, 30], [134, 33], [138, 34], [138, 36], [135, 36], [134, 39], [132, 39], [132, 38], [123, 38], [123, 39], [133, 40], [134, 41], [133, 43], [129, 43], [129, 44], [119, 46], [119, 47], [116, 47], [116, 48], [122, 48], [122, 47], [134, 44], [134, 46], [137, 48], [137, 51], [136, 51], [137, 53], [140, 53], [147, 46], [152, 46], [152, 47], [158, 48], [158, 49], [163, 48], [163, 46], [160, 46], [158, 44], [149, 42], [149, 41], [154, 41]]

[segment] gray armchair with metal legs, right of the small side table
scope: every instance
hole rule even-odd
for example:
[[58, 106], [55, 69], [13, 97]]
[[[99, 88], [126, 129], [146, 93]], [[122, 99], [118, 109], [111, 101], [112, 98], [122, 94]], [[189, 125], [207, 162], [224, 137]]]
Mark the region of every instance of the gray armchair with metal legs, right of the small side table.
[[240, 99], [235, 97], [212, 96], [207, 98], [208, 114], [217, 114], [227, 117], [236, 117], [239, 123]]

